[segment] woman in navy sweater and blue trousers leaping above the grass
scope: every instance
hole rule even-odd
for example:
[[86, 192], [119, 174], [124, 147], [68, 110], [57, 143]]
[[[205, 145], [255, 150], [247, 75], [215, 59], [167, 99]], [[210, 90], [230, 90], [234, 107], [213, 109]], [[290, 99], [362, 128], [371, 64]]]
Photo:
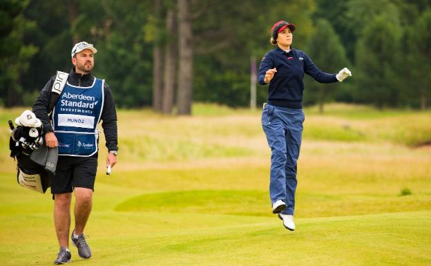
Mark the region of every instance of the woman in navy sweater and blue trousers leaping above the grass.
[[[347, 68], [338, 74], [322, 72], [301, 50], [291, 48], [296, 26], [278, 21], [271, 28], [269, 51], [260, 63], [258, 81], [269, 83], [267, 103], [263, 106], [262, 127], [271, 148], [269, 196], [272, 212], [278, 213], [283, 225], [294, 231], [296, 161], [303, 134], [304, 73], [317, 82], [342, 82], [352, 73]], [[325, 51], [323, 51], [324, 53]]]

